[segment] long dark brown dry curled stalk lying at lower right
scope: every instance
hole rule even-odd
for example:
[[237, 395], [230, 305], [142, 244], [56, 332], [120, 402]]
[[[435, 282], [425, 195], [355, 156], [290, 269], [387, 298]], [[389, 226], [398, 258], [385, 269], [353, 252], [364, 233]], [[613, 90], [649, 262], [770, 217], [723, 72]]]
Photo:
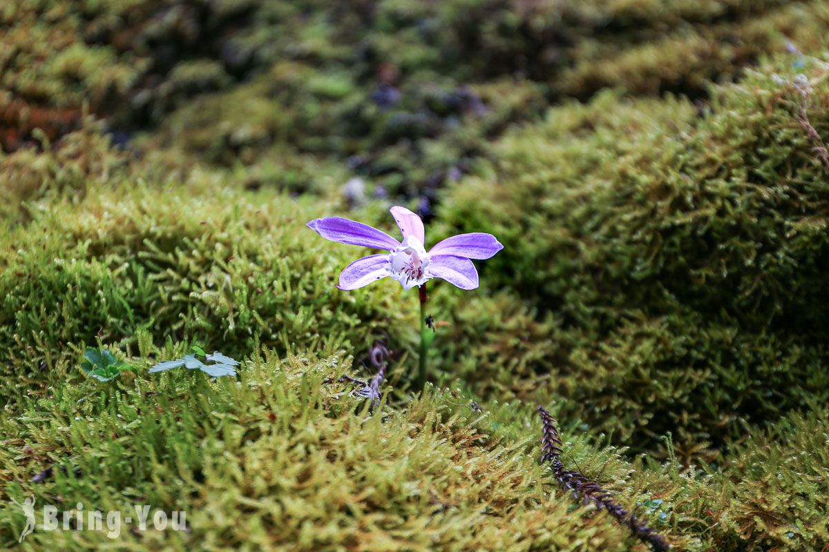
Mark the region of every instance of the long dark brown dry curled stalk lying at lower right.
[[655, 552], [666, 552], [669, 550], [665, 537], [646, 526], [638, 516], [628, 512], [616, 502], [613, 502], [613, 495], [605, 491], [599, 483], [590, 481], [584, 474], [573, 470], [565, 469], [559, 459], [562, 452], [559, 430], [555, 427], [555, 420], [550, 412], [543, 407], [538, 407], [538, 414], [541, 415], [541, 461], [551, 463], [553, 475], [559, 481], [561, 488], [573, 493], [575, 499], [582, 497], [585, 504], [594, 503], [599, 510], [607, 510], [608, 513], [618, 519], [620, 523], [630, 527], [633, 534], [638, 536], [648, 545], [651, 545]]

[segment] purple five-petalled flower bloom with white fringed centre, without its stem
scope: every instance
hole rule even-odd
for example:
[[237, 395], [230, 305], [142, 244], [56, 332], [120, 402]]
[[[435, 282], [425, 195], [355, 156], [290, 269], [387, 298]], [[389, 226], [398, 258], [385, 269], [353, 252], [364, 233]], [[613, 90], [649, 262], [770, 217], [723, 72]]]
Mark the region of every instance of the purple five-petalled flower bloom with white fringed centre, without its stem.
[[462, 290], [474, 290], [478, 287], [478, 271], [469, 259], [488, 259], [504, 248], [492, 234], [476, 232], [446, 238], [427, 252], [420, 217], [405, 207], [389, 210], [403, 233], [403, 242], [348, 218], [314, 218], [308, 223], [314, 232], [332, 242], [388, 252], [362, 257], [346, 266], [337, 288], [356, 290], [391, 276], [405, 290], [422, 286], [432, 278], [443, 278]]

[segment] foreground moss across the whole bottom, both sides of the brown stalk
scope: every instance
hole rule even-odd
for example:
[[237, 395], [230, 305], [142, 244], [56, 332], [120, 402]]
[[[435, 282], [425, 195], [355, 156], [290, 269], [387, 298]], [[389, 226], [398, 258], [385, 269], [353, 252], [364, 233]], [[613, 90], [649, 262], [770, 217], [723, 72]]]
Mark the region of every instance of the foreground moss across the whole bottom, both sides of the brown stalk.
[[[143, 333], [141, 356], [126, 360], [142, 367], [184, 350], [155, 348]], [[33, 493], [38, 505], [72, 512], [72, 524], [80, 502], [87, 529], [38, 526], [22, 550], [647, 550], [555, 487], [538, 462], [530, 406], [495, 401], [478, 411], [468, 396], [433, 390], [405, 406], [384, 400], [371, 416], [339, 382], [349, 372], [339, 355], [265, 351], [238, 382], [139, 370], [107, 385], [70, 378], [54, 396], [32, 396], [26, 416], [0, 415], [0, 542], [17, 544], [26, 521], [7, 499]], [[733, 447], [721, 469], [696, 473], [675, 458], [629, 463], [570, 427], [565, 463], [623, 506], [638, 505], [676, 549], [819, 550], [829, 542], [827, 420], [812, 407]], [[150, 507], [146, 527], [136, 504]], [[105, 516], [89, 530], [95, 509], [120, 512], [119, 532]], [[184, 511], [188, 529], [154, 528], [158, 511], [171, 520]]]

